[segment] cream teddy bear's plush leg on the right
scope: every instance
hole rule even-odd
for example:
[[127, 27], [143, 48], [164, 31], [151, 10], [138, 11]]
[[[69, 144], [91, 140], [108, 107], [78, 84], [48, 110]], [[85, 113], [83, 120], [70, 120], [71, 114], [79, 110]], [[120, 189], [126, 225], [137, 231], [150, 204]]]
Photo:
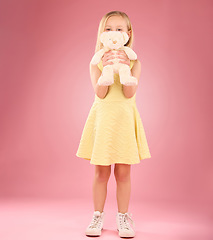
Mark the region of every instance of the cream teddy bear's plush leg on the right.
[[122, 64], [119, 68], [120, 83], [126, 86], [137, 85], [137, 78], [131, 76], [131, 70], [128, 65]]

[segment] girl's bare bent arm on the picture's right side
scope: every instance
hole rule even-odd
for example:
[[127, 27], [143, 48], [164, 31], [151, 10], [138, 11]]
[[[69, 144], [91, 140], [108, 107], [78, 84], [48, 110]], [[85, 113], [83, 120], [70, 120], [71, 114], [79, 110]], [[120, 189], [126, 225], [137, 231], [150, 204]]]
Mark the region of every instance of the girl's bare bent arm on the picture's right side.
[[[140, 79], [140, 75], [141, 75], [141, 63], [138, 59], [135, 60], [134, 65], [131, 69], [131, 73], [132, 73], [133, 77], [137, 78], [138, 83], [139, 83], [139, 79]], [[123, 86], [123, 93], [126, 98], [133, 97], [138, 88], [138, 84], [136, 86], [126, 86], [126, 85], [122, 85], [122, 86]]]

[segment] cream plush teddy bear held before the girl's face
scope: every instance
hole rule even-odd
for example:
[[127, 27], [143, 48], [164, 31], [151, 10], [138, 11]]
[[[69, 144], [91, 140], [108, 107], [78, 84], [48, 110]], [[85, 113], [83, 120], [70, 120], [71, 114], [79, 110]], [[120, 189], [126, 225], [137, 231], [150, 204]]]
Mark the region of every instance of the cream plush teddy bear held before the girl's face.
[[[129, 47], [124, 46], [129, 40], [129, 36], [126, 32], [119, 31], [109, 31], [103, 32], [100, 35], [100, 41], [103, 43], [104, 47], [96, 52], [91, 60], [91, 64], [98, 64], [104, 53], [113, 50], [124, 50], [130, 60], [136, 60], [136, 53]], [[116, 56], [116, 55], [115, 55]], [[124, 85], [137, 85], [137, 78], [131, 76], [130, 67], [127, 64], [119, 63], [121, 59], [114, 58], [112, 61], [114, 64], [106, 65], [103, 68], [102, 75], [98, 79], [99, 85], [109, 86], [114, 83], [114, 73], [118, 73], [120, 77], [120, 83]]]

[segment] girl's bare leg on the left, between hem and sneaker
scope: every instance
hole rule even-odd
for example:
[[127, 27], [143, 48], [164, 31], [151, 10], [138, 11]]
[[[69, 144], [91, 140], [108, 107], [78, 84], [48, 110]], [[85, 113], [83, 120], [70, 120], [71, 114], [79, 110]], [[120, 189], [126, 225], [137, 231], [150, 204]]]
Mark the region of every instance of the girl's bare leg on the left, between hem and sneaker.
[[107, 183], [111, 174], [110, 166], [95, 165], [95, 176], [93, 181], [94, 211], [103, 212], [107, 196]]

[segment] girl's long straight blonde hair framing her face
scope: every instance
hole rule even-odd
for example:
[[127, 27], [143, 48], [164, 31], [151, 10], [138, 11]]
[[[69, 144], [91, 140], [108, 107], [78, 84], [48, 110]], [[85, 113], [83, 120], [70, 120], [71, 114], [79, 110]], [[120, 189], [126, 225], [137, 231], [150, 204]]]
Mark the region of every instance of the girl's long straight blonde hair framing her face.
[[97, 52], [97, 51], [99, 51], [99, 50], [101, 50], [103, 48], [103, 43], [100, 41], [100, 35], [101, 35], [101, 33], [104, 32], [104, 28], [105, 28], [106, 22], [107, 22], [107, 20], [111, 16], [121, 16], [121, 17], [123, 17], [126, 20], [127, 29], [128, 29], [128, 31], [131, 30], [131, 35], [130, 35], [129, 41], [125, 44], [125, 46], [126, 47], [130, 47], [130, 48], [132, 48], [132, 46], [133, 46], [133, 29], [132, 29], [132, 24], [130, 22], [129, 17], [124, 12], [121, 12], [121, 11], [111, 11], [111, 12], [106, 13], [102, 17], [102, 19], [101, 19], [101, 21], [99, 23], [95, 52]]

